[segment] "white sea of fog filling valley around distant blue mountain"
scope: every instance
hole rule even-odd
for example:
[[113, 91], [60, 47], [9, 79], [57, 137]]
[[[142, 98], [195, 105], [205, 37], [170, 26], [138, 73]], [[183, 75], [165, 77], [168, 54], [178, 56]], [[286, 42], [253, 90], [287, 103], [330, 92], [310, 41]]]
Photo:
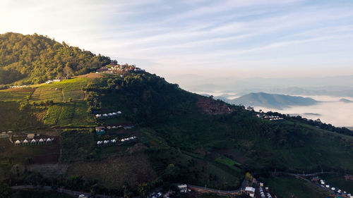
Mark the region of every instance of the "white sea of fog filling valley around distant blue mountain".
[[[209, 92], [213, 96], [221, 96], [228, 94], [228, 99], [237, 98], [233, 93], [225, 92]], [[270, 109], [263, 106], [253, 106], [256, 111], [262, 109], [263, 111], [276, 111], [284, 114], [298, 114], [304, 118], [316, 120], [320, 118], [323, 123], [330, 123], [338, 127], [352, 127], [353, 126], [353, 103], [346, 103], [340, 101], [345, 98], [353, 101], [352, 97], [331, 97], [331, 96], [303, 96], [310, 97], [317, 101], [323, 101], [313, 106], [292, 106], [285, 109]]]

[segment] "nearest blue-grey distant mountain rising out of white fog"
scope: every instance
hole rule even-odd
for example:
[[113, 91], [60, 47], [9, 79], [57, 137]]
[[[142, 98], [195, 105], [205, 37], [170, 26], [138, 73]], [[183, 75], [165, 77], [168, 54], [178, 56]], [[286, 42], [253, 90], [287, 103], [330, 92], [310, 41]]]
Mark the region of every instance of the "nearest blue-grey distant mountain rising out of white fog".
[[272, 109], [282, 109], [289, 106], [310, 106], [320, 101], [307, 97], [293, 97], [282, 94], [267, 94], [264, 92], [246, 94], [237, 99], [227, 100], [231, 104], [244, 106], [263, 106]]

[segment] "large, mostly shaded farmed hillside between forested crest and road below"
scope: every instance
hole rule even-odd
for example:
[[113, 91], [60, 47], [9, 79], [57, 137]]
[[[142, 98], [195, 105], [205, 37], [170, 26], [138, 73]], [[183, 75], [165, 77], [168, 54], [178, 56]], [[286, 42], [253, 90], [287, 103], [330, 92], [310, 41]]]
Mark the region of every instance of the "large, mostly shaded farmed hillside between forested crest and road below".
[[[136, 66], [88, 70], [0, 90], [0, 180], [131, 197], [167, 183], [234, 190], [246, 172], [353, 173], [353, 137], [340, 128], [280, 113], [258, 116]], [[31, 133], [54, 142], [15, 146]], [[97, 144], [107, 140], [118, 143]]]

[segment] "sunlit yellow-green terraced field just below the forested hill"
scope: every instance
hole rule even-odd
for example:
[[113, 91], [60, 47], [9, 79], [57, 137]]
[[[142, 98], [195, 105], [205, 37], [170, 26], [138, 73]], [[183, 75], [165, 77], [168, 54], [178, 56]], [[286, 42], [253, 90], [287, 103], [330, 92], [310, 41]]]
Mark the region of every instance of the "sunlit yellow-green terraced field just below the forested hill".
[[[0, 130], [28, 130], [53, 125], [94, 126], [95, 120], [83, 101], [85, 93], [82, 88], [89, 82], [88, 78], [75, 78], [38, 87], [1, 90], [0, 119], [4, 124], [0, 125]], [[20, 103], [40, 104], [47, 100], [54, 101], [54, 105], [19, 110]]]

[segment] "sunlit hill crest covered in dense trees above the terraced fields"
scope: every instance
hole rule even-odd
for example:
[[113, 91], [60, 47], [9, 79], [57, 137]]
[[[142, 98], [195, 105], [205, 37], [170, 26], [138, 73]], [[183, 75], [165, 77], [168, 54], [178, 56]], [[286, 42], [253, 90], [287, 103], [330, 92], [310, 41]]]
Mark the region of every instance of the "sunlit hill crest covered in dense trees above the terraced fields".
[[42, 35], [0, 35], [0, 85], [22, 79], [23, 84], [35, 84], [82, 75], [111, 62], [107, 56], [96, 56]]

